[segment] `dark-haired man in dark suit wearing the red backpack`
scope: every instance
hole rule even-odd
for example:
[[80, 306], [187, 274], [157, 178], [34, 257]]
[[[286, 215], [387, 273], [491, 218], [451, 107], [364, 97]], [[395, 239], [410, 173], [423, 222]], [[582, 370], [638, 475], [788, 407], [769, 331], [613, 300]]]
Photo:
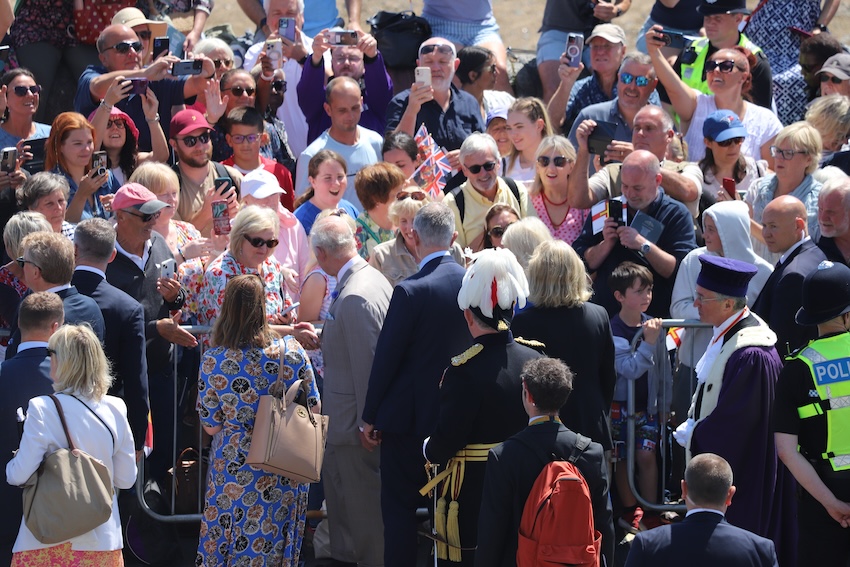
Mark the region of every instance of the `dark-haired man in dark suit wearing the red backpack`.
[[[558, 412], [573, 391], [573, 373], [557, 358], [538, 358], [522, 369], [522, 406], [528, 426], [487, 456], [487, 474], [478, 520], [475, 565], [515, 567], [517, 534], [525, 502], [546, 462], [540, 454], [567, 458], [577, 435]], [[593, 526], [602, 534], [602, 555], [614, 561], [614, 514], [608, 498], [608, 465], [602, 445], [590, 443], [576, 461], [590, 490]]]

